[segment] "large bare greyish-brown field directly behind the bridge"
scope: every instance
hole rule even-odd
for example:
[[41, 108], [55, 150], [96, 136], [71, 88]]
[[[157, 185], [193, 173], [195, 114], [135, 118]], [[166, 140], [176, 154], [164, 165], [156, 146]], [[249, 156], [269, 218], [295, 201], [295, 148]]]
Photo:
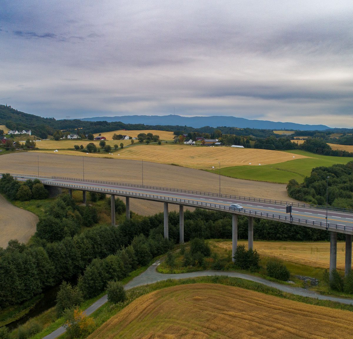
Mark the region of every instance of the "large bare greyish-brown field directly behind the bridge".
[[[82, 178], [82, 158], [61, 155], [60, 153], [39, 153], [39, 174]], [[36, 175], [38, 171], [37, 154], [38, 152], [30, 151], [1, 155], [1, 172]], [[292, 156], [292, 154], [290, 155]], [[135, 160], [85, 156], [85, 179], [139, 184], [142, 181], [141, 165], [141, 161]], [[143, 173], [145, 185], [208, 192], [217, 192], [219, 189], [219, 177], [216, 174], [192, 168], [144, 161]], [[234, 195], [257, 196], [261, 198], [276, 197], [277, 200], [294, 201], [287, 196], [286, 185], [283, 184], [252, 182], [249, 180], [222, 177], [221, 191]], [[162, 203], [131, 199], [130, 205], [132, 211], [143, 215], [163, 211]], [[177, 209], [179, 210], [177, 205], [170, 204], [170, 210]]]

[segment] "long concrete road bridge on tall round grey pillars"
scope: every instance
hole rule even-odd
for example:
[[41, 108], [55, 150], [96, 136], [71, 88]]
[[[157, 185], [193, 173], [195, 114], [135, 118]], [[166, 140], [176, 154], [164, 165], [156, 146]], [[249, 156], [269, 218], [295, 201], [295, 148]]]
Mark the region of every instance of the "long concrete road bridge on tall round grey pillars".
[[[232, 214], [232, 257], [237, 250], [238, 215], [248, 217], [248, 244], [253, 248], [254, 218], [275, 220], [286, 224], [300, 225], [330, 231], [330, 278], [336, 269], [337, 233], [346, 234], [345, 274], [352, 267], [353, 210], [337, 209], [325, 206], [313, 206], [305, 203], [293, 203], [270, 199], [241, 197], [211, 192], [190, 191], [174, 188], [154, 187], [101, 180], [83, 180], [64, 177], [28, 176], [12, 174], [18, 180], [39, 179], [44, 185], [72, 190], [110, 194], [112, 225], [115, 226], [115, 196], [126, 198], [126, 219], [130, 219], [130, 198], [158, 201], [164, 204], [164, 237], [168, 238], [168, 204], [179, 205], [180, 243], [184, 242], [184, 206], [199, 207]], [[231, 204], [240, 204], [243, 209], [234, 209]], [[286, 206], [292, 206], [292, 213], [286, 213]], [[234, 260], [234, 259], [233, 259]]]

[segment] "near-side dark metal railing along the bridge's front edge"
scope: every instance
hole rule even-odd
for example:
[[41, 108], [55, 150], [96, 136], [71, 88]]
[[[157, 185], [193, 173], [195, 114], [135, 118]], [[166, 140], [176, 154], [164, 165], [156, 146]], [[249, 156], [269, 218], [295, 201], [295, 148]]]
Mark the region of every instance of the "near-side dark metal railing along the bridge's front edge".
[[[25, 181], [25, 179], [20, 179], [22, 181]], [[90, 191], [97, 191], [97, 192], [105, 192], [109, 194], [116, 194], [116, 195], [123, 195], [123, 196], [132, 196], [132, 197], [141, 197], [141, 198], [150, 198], [151, 200], [159, 200], [159, 201], [171, 201], [171, 202], [176, 202], [176, 203], [184, 203], [188, 204], [189, 206], [192, 207], [204, 207], [204, 208], [216, 208], [220, 210], [224, 210], [225, 212], [237, 212], [240, 215], [250, 215], [250, 216], [257, 216], [257, 217], [266, 217], [266, 218], [272, 218], [274, 220], [279, 220], [279, 221], [288, 221], [288, 222], [298, 222], [299, 224], [306, 224], [308, 226], [319, 226], [323, 229], [327, 229], [330, 231], [334, 230], [340, 230], [340, 231], [349, 231], [353, 232], [353, 226], [345, 226], [345, 225], [337, 225], [337, 224], [327, 224], [326, 222], [322, 221], [315, 221], [315, 220], [308, 220], [305, 218], [290, 218], [290, 216], [287, 215], [280, 215], [280, 214], [275, 214], [275, 213], [265, 213], [265, 212], [257, 212], [253, 211], [250, 209], [234, 209], [230, 206], [225, 206], [225, 205], [220, 205], [220, 204], [215, 204], [215, 203], [209, 203], [209, 202], [203, 202], [203, 201], [197, 201], [197, 200], [192, 200], [192, 199], [183, 199], [183, 198], [175, 198], [175, 197], [166, 197], [162, 195], [157, 195], [157, 194], [148, 194], [148, 193], [139, 193], [139, 192], [131, 192], [131, 191], [124, 191], [124, 190], [114, 190], [114, 189], [108, 189], [108, 188], [98, 188], [98, 187], [88, 187], [88, 186], [83, 186], [83, 185], [74, 185], [74, 184], [65, 184], [65, 183], [56, 183], [56, 182], [51, 182], [50, 184], [54, 186], [59, 186], [59, 187], [66, 187], [66, 188], [73, 188], [73, 189], [79, 189], [79, 190], [90, 190]]]

